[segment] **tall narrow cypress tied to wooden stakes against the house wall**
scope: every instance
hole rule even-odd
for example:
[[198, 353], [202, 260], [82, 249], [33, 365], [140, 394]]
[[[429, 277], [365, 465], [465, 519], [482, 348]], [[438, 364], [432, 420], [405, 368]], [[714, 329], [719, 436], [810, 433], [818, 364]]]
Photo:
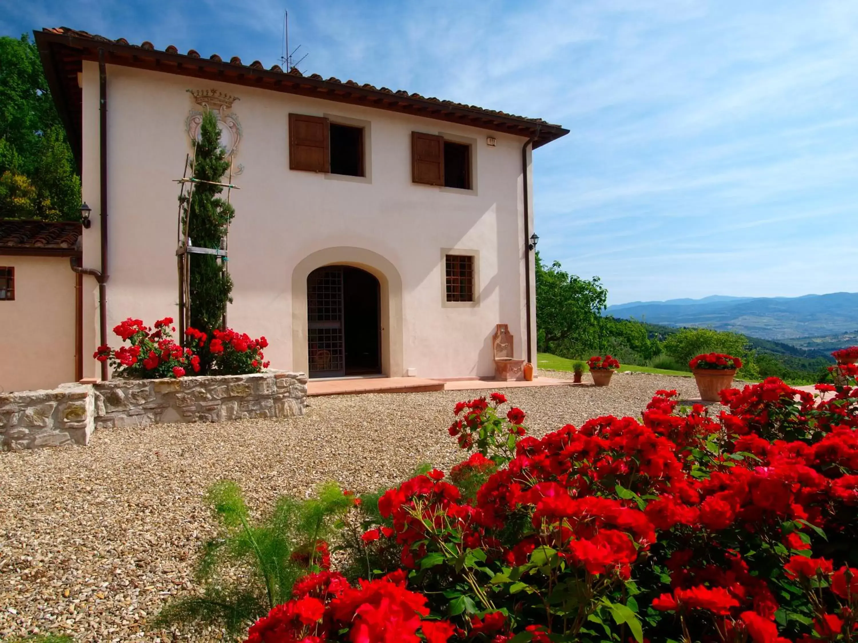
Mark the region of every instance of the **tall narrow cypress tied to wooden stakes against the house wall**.
[[[229, 169], [226, 152], [221, 147], [221, 130], [215, 114], [208, 111], [202, 117], [200, 141], [196, 144], [196, 159], [193, 162], [193, 183], [190, 201], [184, 203], [183, 224], [187, 221], [190, 241], [198, 248], [221, 248], [221, 240], [227, 235], [227, 226], [233, 219], [233, 207], [219, 195], [223, 192], [221, 178]], [[190, 255], [190, 326], [211, 334], [221, 328], [227, 303], [233, 301], [233, 280], [227, 266], [215, 255]], [[206, 361], [202, 356], [203, 362]], [[203, 370], [207, 364], [203, 364]]]

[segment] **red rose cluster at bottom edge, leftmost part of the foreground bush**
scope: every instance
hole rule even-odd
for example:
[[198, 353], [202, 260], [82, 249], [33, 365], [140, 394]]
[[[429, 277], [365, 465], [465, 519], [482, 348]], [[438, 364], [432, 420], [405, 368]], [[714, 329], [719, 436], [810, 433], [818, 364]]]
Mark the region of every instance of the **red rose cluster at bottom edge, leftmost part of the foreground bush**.
[[426, 618], [426, 597], [406, 589], [402, 571], [357, 587], [341, 574], [311, 574], [295, 584], [293, 596], [254, 623], [245, 643], [446, 643], [456, 629]]

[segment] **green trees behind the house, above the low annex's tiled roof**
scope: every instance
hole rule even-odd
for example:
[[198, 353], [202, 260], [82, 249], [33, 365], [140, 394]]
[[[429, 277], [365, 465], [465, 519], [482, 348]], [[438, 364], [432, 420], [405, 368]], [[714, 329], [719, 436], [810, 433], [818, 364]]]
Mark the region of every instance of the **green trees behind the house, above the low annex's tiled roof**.
[[0, 177], [3, 217], [80, 219], [81, 179], [26, 34], [0, 37]]

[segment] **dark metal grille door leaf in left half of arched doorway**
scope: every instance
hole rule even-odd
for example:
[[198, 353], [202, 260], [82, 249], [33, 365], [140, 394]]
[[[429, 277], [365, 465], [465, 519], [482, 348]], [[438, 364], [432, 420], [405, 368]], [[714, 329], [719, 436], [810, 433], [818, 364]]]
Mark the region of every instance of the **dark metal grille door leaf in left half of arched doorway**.
[[310, 376], [344, 376], [341, 267], [321, 267], [307, 277], [307, 322]]

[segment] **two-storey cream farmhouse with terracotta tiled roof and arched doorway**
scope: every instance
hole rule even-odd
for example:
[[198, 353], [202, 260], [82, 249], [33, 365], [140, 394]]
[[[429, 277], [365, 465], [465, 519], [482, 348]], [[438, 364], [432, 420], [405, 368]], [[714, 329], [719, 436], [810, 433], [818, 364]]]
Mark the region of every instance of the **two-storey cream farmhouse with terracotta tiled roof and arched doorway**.
[[[86, 357], [115, 343], [110, 329], [124, 318], [178, 315], [176, 179], [207, 110], [240, 188], [230, 194], [228, 323], [266, 336], [272, 368], [492, 376], [498, 323], [514, 357], [535, 362], [531, 153], [566, 129], [172, 45], [65, 27], [35, 39], [92, 207], [81, 237], [83, 376], [100, 375]], [[17, 304], [4, 325], [24, 333], [51, 309], [65, 328], [75, 310], [73, 293], [59, 294], [60, 281], [74, 283], [65, 270], [56, 294], [39, 294], [42, 308]], [[28, 297], [24, 284], [16, 292]], [[4, 377], [33, 363], [15, 351]], [[53, 383], [71, 379], [71, 364]]]

